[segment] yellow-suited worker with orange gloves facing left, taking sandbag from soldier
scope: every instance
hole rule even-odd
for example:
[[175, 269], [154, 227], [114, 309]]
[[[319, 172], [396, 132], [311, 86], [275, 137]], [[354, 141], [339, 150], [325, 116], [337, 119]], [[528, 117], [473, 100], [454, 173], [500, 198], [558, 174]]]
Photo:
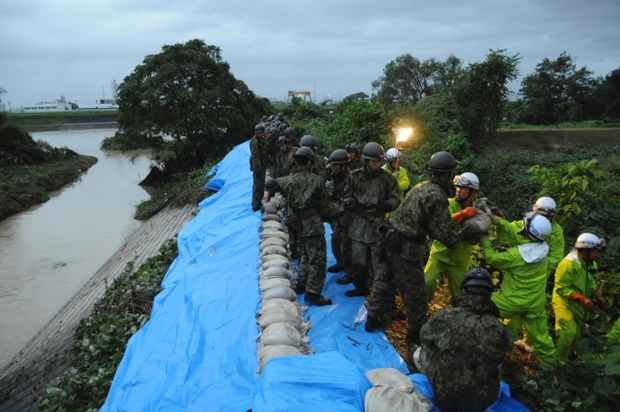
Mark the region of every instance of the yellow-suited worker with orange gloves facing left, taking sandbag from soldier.
[[[465, 172], [454, 177], [456, 194], [448, 199], [448, 209], [452, 217], [452, 229], [459, 231], [459, 222], [463, 219], [476, 216], [476, 209], [472, 207], [475, 194], [480, 189], [478, 176]], [[463, 294], [460, 287], [471, 266], [471, 253], [474, 245], [471, 242], [459, 242], [454, 249], [448, 249], [438, 240], [433, 241], [431, 253], [424, 268], [426, 282], [426, 298], [430, 302], [437, 290], [437, 281], [443, 274], [448, 278], [450, 296]]]

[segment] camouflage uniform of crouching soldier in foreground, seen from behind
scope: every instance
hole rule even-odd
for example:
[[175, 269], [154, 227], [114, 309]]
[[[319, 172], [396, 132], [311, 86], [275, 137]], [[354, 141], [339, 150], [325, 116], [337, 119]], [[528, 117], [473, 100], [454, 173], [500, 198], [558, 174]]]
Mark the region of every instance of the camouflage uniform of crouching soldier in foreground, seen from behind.
[[499, 368], [508, 336], [489, 298], [452, 299], [420, 330], [420, 364], [442, 411], [483, 411], [499, 395]]

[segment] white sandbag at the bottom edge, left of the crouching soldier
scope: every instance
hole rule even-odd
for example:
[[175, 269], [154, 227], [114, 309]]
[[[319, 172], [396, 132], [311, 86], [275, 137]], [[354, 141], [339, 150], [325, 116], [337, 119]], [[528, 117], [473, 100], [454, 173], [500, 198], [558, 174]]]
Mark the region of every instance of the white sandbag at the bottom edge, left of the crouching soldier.
[[364, 398], [365, 412], [431, 411], [433, 405], [418, 392], [411, 379], [394, 368], [372, 369], [366, 372], [372, 388]]

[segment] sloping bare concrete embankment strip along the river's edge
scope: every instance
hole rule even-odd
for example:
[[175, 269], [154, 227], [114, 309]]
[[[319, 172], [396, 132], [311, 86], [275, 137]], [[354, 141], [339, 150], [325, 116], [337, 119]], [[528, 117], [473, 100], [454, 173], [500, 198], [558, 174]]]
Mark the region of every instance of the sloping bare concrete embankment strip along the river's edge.
[[[166, 240], [173, 238], [192, 217], [196, 206], [164, 209], [147, 220], [129, 240], [97, 271], [90, 281], [28, 343], [19, 354], [0, 370], [0, 411], [36, 411], [33, 393], [44, 389], [46, 374], [58, 376], [67, 366], [62, 355], [73, 342], [73, 332], [94, 304], [133, 263], [138, 268], [159, 252]], [[18, 315], [15, 321], [19, 321]], [[55, 361], [46, 370], [48, 361]]]

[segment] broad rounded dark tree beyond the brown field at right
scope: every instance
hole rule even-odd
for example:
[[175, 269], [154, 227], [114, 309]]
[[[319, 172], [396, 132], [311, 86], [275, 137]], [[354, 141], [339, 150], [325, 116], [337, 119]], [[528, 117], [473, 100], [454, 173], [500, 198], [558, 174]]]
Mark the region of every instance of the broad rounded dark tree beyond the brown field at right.
[[577, 69], [566, 52], [556, 60], [547, 58], [523, 78], [520, 93], [526, 105], [523, 123], [577, 122], [593, 115], [593, 93], [598, 81], [587, 67]]

